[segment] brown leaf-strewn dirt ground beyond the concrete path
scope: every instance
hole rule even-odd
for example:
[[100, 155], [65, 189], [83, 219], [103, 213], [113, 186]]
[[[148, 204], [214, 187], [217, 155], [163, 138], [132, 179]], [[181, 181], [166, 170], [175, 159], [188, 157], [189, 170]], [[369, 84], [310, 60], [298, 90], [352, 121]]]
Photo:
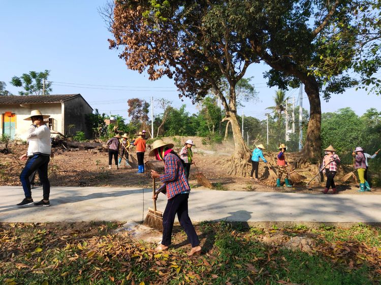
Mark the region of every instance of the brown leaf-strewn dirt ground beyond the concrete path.
[[[183, 140], [189, 137], [164, 138], [166, 142], [173, 142], [175, 151], [179, 152]], [[234, 146], [232, 142], [224, 142], [221, 145], [202, 144], [202, 138], [190, 137], [194, 140], [196, 147], [194, 150], [194, 161], [197, 168], [192, 165], [189, 176], [189, 184], [192, 189], [197, 189], [200, 185], [197, 182], [195, 173], [200, 171], [210, 180], [216, 190], [229, 191], [258, 191], [258, 192], [294, 192], [294, 193], [320, 193], [325, 182], [312, 181], [307, 187], [306, 183], [317, 173], [316, 165], [309, 165], [308, 169], [297, 169], [299, 174], [306, 177], [305, 180], [294, 184], [293, 188], [276, 188], [273, 177], [269, 176], [269, 170], [264, 163], [260, 163], [258, 182], [249, 180], [249, 177], [235, 177], [227, 174], [224, 160], [228, 159]], [[2, 146], [0, 146], [1, 148]], [[0, 185], [20, 186], [19, 174], [24, 162], [18, 157], [25, 153], [25, 145], [11, 145], [10, 154], [0, 153]], [[146, 152], [146, 160], [149, 149]], [[120, 169], [108, 169], [108, 153], [103, 150], [79, 150], [79, 149], [54, 149], [55, 156], [49, 163], [49, 179], [51, 186], [116, 186], [116, 187], [151, 187], [151, 179], [148, 171], [138, 174], [137, 169], [122, 166]], [[132, 151], [136, 158], [136, 154]], [[289, 153], [292, 160], [292, 154]], [[265, 156], [269, 161], [274, 161], [273, 154]], [[123, 164], [123, 162], [122, 162]], [[157, 163], [155, 164], [157, 165]], [[274, 164], [273, 164], [274, 165]], [[248, 168], [251, 170], [251, 166]], [[345, 194], [381, 194], [380, 188], [372, 188], [372, 192], [358, 193], [359, 185], [352, 182], [342, 183], [341, 177], [351, 171], [351, 166], [341, 166], [335, 182], [340, 193]], [[38, 180], [36, 180], [38, 181]]]

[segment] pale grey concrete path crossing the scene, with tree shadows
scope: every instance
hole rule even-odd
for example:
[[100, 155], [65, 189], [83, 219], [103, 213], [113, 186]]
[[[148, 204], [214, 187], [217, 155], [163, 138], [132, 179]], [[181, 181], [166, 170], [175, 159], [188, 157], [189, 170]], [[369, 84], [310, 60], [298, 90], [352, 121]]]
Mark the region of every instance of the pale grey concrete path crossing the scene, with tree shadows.
[[[32, 191], [35, 202], [40, 201], [42, 188]], [[147, 188], [52, 187], [50, 207], [16, 206], [24, 198], [21, 187], [0, 186], [0, 197], [1, 222], [141, 222], [148, 207], [152, 207], [152, 192]], [[164, 210], [166, 202], [166, 196], [160, 194], [157, 209]], [[215, 191], [197, 188], [189, 196], [189, 217], [194, 222], [381, 223], [381, 195]]]

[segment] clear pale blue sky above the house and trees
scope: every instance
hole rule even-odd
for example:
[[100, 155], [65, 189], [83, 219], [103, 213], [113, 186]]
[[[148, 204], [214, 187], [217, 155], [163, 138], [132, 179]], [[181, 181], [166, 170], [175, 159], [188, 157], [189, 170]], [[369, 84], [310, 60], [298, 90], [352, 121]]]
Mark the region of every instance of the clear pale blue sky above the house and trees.
[[[177, 108], [186, 104], [189, 113], [196, 113], [197, 106], [189, 99], [178, 98], [172, 80], [149, 81], [146, 74], [126, 68], [117, 52], [109, 50], [107, 39], [111, 34], [97, 12], [104, 3], [104, 0], [3, 0], [0, 81], [7, 83], [7, 90], [14, 94], [20, 90], [9, 84], [13, 76], [49, 69], [52, 94], [81, 93], [93, 109], [106, 114], [111, 112], [128, 118], [126, 100], [135, 97], [150, 100], [151, 96], [173, 100]], [[266, 69], [263, 64], [248, 68], [245, 77], [254, 77], [252, 82], [259, 95], [256, 102], [238, 108], [239, 114], [243, 111], [248, 116], [264, 119], [265, 108], [273, 105], [276, 88], [266, 86], [263, 78]], [[287, 95], [295, 99], [298, 93], [298, 89], [287, 91]], [[303, 108], [309, 110], [305, 93], [303, 97]], [[372, 107], [381, 111], [381, 97], [353, 88], [343, 95], [332, 95], [328, 103], [322, 100], [323, 113], [345, 107], [352, 108], [358, 115]], [[161, 110], [155, 107], [154, 113]]]

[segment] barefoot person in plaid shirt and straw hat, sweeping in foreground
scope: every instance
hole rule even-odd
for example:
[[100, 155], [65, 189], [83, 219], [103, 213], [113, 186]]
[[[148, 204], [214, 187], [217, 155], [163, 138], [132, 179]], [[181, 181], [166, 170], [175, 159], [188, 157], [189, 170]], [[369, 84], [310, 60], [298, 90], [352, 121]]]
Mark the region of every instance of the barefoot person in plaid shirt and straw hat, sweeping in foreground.
[[186, 180], [185, 170], [181, 158], [172, 150], [173, 144], [166, 144], [162, 139], [155, 140], [149, 156], [154, 156], [156, 160], [164, 161], [164, 174], [158, 174], [151, 170], [152, 178], [160, 179], [163, 186], [160, 187], [153, 199], [157, 199], [160, 192], [166, 193], [168, 201], [163, 213], [163, 239], [156, 251], [166, 251], [171, 244], [173, 223], [175, 216], [184, 229], [192, 248], [187, 253], [188, 256], [201, 253], [199, 237], [196, 234], [192, 221], [188, 216], [188, 198], [190, 187]]

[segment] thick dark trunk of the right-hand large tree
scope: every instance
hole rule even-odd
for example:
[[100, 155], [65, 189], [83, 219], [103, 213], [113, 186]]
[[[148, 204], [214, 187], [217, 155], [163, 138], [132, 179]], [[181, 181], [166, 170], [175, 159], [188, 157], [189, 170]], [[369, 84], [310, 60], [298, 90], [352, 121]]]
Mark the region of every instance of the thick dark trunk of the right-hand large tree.
[[321, 123], [322, 123], [322, 108], [319, 95], [319, 86], [314, 78], [309, 77], [308, 80], [303, 81], [305, 88], [304, 91], [308, 96], [310, 118], [308, 121], [306, 142], [303, 150], [300, 152], [300, 159], [306, 161], [307, 159], [314, 160], [314, 162], [321, 159]]

